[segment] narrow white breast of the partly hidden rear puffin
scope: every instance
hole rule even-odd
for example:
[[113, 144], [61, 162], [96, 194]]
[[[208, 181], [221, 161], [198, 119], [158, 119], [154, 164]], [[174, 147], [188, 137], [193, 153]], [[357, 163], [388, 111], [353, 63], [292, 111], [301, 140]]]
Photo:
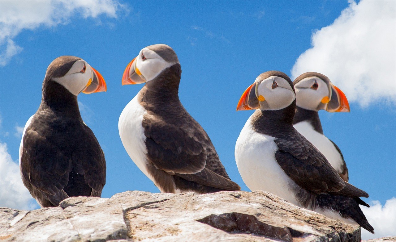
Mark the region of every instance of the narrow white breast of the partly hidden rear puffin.
[[316, 132], [308, 121], [302, 121], [293, 126], [326, 157], [334, 170], [338, 173], [343, 172], [344, 162], [341, 154], [324, 134]]

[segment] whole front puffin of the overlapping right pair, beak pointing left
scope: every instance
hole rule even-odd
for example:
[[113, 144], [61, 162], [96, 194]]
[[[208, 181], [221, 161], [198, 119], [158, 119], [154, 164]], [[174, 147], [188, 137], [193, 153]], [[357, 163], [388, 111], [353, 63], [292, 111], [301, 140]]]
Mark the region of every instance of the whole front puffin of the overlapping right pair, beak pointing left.
[[279, 71], [259, 75], [238, 110], [254, 110], [235, 146], [238, 171], [249, 189], [264, 190], [297, 206], [373, 233], [359, 204], [368, 194], [341, 179], [326, 157], [293, 127], [296, 95]]

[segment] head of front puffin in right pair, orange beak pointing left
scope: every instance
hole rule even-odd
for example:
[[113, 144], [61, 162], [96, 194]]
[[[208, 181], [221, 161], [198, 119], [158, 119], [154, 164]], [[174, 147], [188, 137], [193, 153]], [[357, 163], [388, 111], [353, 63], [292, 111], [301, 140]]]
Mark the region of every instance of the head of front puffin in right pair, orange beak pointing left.
[[296, 99], [293, 83], [283, 72], [269, 71], [258, 76], [241, 96], [239, 110], [281, 110]]

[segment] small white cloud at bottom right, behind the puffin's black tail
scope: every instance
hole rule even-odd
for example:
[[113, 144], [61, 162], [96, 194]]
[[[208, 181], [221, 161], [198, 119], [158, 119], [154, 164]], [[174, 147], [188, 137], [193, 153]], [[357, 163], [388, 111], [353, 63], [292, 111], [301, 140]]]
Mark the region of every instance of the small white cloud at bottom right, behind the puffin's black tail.
[[361, 206], [367, 221], [374, 227], [375, 234], [362, 229], [362, 239], [396, 236], [396, 198], [386, 200], [385, 206], [379, 201], [370, 203], [370, 208]]

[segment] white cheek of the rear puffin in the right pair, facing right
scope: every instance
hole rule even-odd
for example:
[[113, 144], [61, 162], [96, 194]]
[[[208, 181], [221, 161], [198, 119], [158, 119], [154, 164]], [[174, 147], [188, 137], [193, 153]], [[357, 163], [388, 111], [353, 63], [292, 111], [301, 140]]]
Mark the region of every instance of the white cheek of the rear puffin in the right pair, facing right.
[[[318, 89], [312, 89], [312, 85], [318, 83]], [[307, 110], [318, 111], [318, 105], [325, 96], [329, 96], [327, 84], [318, 77], [308, 77], [295, 85], [297, 106]]]

